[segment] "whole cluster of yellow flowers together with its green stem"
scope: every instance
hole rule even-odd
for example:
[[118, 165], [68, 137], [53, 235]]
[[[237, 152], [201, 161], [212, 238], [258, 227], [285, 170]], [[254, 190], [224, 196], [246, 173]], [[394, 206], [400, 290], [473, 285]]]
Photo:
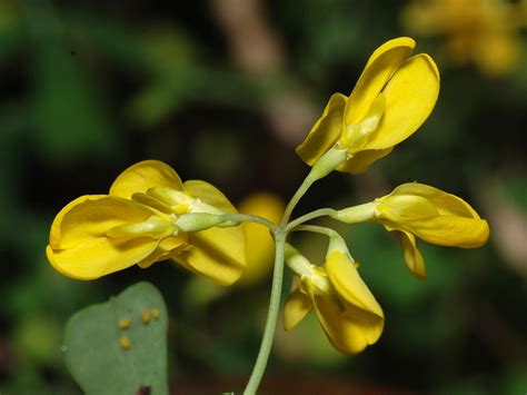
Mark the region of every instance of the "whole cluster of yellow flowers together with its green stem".
[[[260, 355], [268, 355], [270, 349], [268, 330], [274, 333], [276, 326], [284, 263], [295, 273], [284, 309], [286, 329], [315, 310], [337, 349], [361, 352], [380, 337], [382, 309], [362, 282], [345, 240], [332, 229], [305, 221], [329, 215], [346, 224], [378, 223], [388, 231], [397, 231], [406, 265], [420, 279], [426, 270], [417, 238], [473, 248], [489, 236], [487, 221], [468, 203], [418, 182], [404, 184], [370, 203], [340, 210], [319, 209], [289, 221], [296, 204], [316, 180], [332, 170], [366, 171], [428, 118], [439, 95], [439, 71], [428, 55], [411, 56], [414, 49], [415, 41], [407, 37], [384, 43], [369, 58], [351, 93], [331, 96], [297, 148], [311, 170], [281, 220], [277, 213], [281, 204], [269, 196], [259, 196], [248, 205], [250, 208], [243, 208], [260, 216], [237, 214], [210, 184], [182, 182], [168, 165], [146, 160], [125, 170], [108, 195], [79, 197], [57, 215], [47, 247], [49, 261], [66, 276], [95, 279], [136, 264], [145, 268], [171, 259], [192, 273], [230, 285], [242, 276], [247, 260], [252, 267], [246, 282], [251, 284], [269, 271], [275, 244], [270, 324], [266, 325], [267, 340]], [[324, 265], [311, 264], [286, 243], [289, 233], [297, 230], [329, 238]], [[261, 378], [260, 362], [266, 358], [257, 359], [257, 373], [248, 385], [251, 391]]]

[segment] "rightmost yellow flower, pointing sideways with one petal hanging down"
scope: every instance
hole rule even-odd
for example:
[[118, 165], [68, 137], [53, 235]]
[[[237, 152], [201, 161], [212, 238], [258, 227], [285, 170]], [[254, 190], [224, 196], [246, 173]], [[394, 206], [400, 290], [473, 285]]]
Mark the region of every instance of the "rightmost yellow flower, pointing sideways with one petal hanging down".
[[[361, 213], [358, 213], [361, 211]], [[405, 261], [418, 277], [425, 278], [425, 263], [417, 249], [416, 236], [447, 247], [480, 247], [489, 237], [489, 227], [461, 198], [437, 188], [408, 182], [385, 197], [337, 213], [342, 221], [372, 220], [389, 231], [401, 233]]]

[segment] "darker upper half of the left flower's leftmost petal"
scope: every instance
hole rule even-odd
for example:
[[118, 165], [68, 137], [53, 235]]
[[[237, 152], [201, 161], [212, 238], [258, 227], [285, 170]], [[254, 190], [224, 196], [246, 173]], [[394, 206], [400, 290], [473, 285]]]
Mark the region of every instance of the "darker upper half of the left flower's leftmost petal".
[[107, 195], [81, 196], [67, 205], [51, 225], [49, 244], [66, 249], [86, 239], [106, 237], [118, 226], [142, 223], [153, 211], [131, 200]]

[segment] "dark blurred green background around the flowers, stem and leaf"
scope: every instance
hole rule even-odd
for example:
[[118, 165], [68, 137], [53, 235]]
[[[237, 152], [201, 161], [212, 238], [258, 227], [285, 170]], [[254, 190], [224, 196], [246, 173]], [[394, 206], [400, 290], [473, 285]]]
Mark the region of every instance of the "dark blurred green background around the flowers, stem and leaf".
[[[307, 174], [294, 147], [330, 95], [348, 95], [375, 48], [409, 34], [441, 71], [431, 117], [367, 174], [321, 180], [297, 213], [418, 180], [470, 201], [490, 240], [420, 243], [420, 283], [381, 227], [334, 223], [384, 307], [384, 335], [347, 357], [312, 315], [279, 328], [262, 393], [525, 394], [526, 17], [525, 1], [498, 0], [0, 0], [0, 393], [80, 393], [60, 350], [66, 320], [142, 279], [169, 307], [173, 393], [240, 391], [268, 277], [218, 289], [156, 264], [72, 280], [46, 260], [53, 216], [149, 158], [235, 204], [260, 190], [287, 200]], [[325, 254], [322, 238], [294, 240], [315, 261]]]

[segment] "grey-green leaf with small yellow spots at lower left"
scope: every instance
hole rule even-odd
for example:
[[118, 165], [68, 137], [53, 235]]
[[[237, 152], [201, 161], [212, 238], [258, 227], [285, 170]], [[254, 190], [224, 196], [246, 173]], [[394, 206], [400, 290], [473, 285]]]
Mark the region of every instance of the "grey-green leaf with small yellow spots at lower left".
[[[120, 325], [127, 319], [128, 327]], [[87, 395], [137, 394], [147, 387], [151, 395], [168, 394], [167, 323], [159, 290], [149, 283], [132, 285], [70, 318], [63, 348], [68, 369]]]

